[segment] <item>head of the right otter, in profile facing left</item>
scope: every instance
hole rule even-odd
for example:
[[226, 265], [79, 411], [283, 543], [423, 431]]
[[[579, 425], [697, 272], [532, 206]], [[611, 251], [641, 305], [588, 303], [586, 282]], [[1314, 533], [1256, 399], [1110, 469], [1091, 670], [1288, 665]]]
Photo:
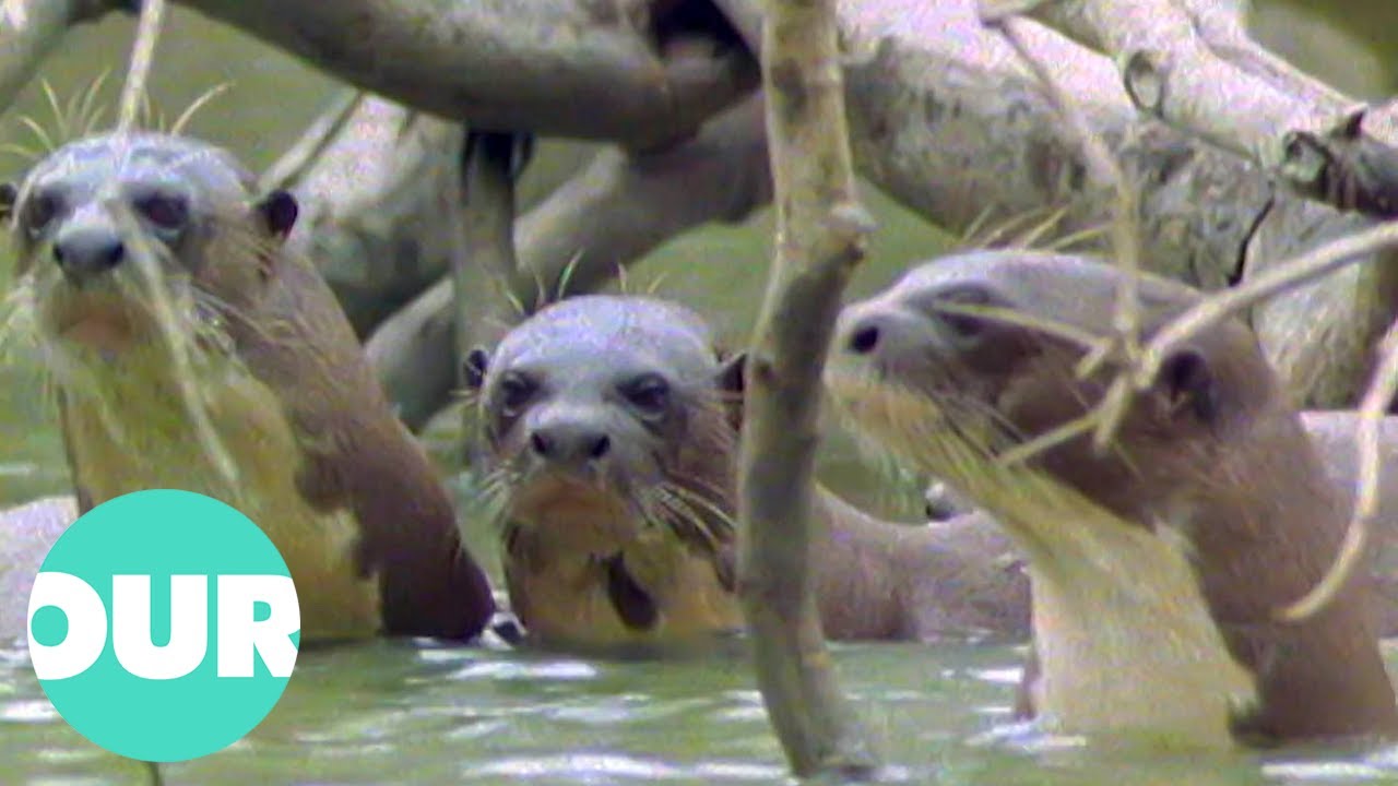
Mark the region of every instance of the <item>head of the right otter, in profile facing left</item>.
[[[1107, 364], [1079, 378], [1076, 366], [1086, 354], [1081, 338], [1110, 329], [1117, 280], [1110, 267], [1051, 255], [986, 253], [925, 264], [844, 309], [828, 383], [865, 436], [965, 490], [969, 481], [955, 478], [972, 466], [1069, 425], [1102, 401], [1118, 369]], [[1145, 278], [1146, 334], [1195, 298]], [[1230, 359], [1213, 362], [1220, 357]], [[1226, 453], [1260, 407], [1275, 406], [1269, 380], [1246, 329], [1218, 326], [1169, 354], [1156, 383], [1134, 397], [1110, 452], [1095, 453], [1079, 434], [1037, 453], [1030, 466], [1118, 516], [1139, 520], [1142, 505], [1158, 515], [1184, 503], [1176, 492], [1198, 487], [1198, 467]]]

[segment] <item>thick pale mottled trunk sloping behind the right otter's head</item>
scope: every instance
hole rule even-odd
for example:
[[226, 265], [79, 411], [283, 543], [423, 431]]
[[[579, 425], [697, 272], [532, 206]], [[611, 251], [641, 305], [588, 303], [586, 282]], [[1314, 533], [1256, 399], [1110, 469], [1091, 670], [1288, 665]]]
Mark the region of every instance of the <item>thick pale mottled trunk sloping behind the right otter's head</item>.
[[[842, 0], [840, 21], [851, 141], [867, 178], [952, 232], [987, 210], [1044, 206], [1064, 206], [1062, 232], [1106, 225], [1111, 185], [1093, 179], [1033, 76], [981, 25], [976, 0]], [[1366, 222], [1274, 194], [1261, 166], [1137, 112], [1106, 57], [1035, 22], [1022, 28], [1139, 189], [1146, 270], [1218, 290]], [[1373, 264], [1383, 259], [1371, 253], [1255, 308], [1297, 403], [1353, 404], [1398, 302], [1391, 266]], [[1316, 340], [1299, 341], [1299, 330]]]

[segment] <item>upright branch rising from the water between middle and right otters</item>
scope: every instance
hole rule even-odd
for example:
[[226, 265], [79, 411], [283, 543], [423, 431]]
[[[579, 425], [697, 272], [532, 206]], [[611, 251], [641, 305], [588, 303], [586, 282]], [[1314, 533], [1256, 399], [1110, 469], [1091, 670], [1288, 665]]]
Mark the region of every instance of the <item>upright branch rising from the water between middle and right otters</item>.
[[776, 259], [747, 366], [738, 480], [740, 587], [758, 684], [798, 776], [875, 766], [825, 650], [811, 572], [821, 373], [872, 224], [854, 190], [833, 6], [768, 6], [762, 81]]

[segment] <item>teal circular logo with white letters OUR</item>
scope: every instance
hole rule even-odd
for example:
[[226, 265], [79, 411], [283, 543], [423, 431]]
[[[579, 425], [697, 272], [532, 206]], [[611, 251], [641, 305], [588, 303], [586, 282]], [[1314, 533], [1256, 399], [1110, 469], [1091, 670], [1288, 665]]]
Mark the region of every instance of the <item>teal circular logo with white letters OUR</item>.
[[281, 698], [301, 646], [291, 572], [261, 529], [189, 491], [98, 505], [29, 594], [29, 657], [53, 708], [143, 761], [219, 751]]

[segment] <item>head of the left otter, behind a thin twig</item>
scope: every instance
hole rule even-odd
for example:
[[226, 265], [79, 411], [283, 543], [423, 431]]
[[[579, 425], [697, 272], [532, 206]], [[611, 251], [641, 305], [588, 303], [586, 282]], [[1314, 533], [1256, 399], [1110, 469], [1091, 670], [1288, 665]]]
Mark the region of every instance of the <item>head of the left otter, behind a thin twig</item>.
[[256, 302], [296, 220], [291, 194], [253, 189], [225, 151], [158, 133], [67, 144], [0, 187], [39, 338], [113, 359], [158, 327], [161, 302], [208, 338]]

